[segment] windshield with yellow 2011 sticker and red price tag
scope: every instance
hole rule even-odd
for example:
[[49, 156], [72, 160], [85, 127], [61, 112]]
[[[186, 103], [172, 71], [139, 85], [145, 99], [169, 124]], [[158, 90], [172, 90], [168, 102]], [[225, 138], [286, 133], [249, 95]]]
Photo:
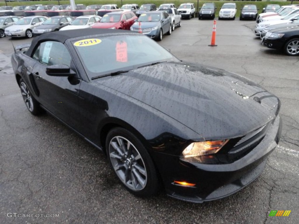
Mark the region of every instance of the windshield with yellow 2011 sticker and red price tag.
[[[145, 35], [82, 38], [82, 41], [77, 39], [72, 43], [91, 79], [157, 62], [179, 62], [170, 52]], [[105, 56], [99, 57], [99, 52], [105, 52]]]

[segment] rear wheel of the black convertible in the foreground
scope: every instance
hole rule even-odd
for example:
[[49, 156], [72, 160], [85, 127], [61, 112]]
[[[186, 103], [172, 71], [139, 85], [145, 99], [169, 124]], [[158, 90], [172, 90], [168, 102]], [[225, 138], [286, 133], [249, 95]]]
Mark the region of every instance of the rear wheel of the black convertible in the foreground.
[[39, 115], [40, 113], [42, 113], [42, 109], [39, 107], [39, 103], [32, 96], [24, 80], [20, 79], [19, 84], [20, 84], [22, 97], [28, 111], [30, 111], [30, 113], [32, 113], [33, 115]]

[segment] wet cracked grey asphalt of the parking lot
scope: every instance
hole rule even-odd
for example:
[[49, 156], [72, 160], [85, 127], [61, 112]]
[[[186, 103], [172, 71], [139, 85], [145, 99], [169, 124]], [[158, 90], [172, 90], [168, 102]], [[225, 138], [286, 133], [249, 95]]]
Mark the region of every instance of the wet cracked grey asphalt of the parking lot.
[[[262, 46], [255, 25], [217, 20], [218, 46], [209, 47], [213, 21], [194, 18], [159, 42], [181, 60], [238, 73], [281, 100], [282, 137], [265, 171], [238, 193], [203, 204], [164, 192], [133, 196], [101, 152], [52, 116], [31, 116], [10, 65], [12, 43], [31, 39], [0, 39], [0, 223], [299, 223], [299, 58]], [[291, 213], [269, 217], [271, 210]]]

